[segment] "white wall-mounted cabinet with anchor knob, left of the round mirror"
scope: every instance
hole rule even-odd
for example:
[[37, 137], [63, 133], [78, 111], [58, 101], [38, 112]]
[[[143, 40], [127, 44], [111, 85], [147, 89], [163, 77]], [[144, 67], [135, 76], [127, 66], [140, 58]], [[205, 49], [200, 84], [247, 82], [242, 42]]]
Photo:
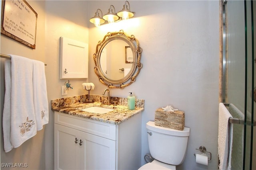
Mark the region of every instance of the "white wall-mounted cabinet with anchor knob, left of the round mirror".
[[88, 78], [88, 44], [60, 37], [60, 78]]

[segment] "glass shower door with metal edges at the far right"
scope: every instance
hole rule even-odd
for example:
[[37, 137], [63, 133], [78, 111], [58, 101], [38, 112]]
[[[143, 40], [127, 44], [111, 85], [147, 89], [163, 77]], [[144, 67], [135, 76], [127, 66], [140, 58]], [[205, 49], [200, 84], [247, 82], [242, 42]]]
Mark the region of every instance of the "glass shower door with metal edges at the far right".
[[232, 170], [256, 169], [254, 126], [255, 4], [253, 1], [223, 1], [222, 102], [234, 104], [244, 124], [234, 124]]

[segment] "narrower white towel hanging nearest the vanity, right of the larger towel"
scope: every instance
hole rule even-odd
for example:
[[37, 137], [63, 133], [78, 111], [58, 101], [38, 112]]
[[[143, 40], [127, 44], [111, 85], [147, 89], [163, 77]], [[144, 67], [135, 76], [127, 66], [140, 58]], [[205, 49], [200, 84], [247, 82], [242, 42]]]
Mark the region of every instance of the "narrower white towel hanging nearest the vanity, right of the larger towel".
[[33, 62], [33, 101], [37, 130], [43, 129], [43, 125], [49, 121], [48, 98], [46, 90], [46, 78], [44, 63], [37, 60]]

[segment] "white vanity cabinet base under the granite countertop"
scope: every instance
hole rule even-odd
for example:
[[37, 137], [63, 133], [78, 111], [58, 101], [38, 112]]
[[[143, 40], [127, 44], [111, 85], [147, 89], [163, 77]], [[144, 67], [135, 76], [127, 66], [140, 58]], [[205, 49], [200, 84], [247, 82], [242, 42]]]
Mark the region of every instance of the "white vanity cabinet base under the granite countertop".
[[120, 125], [56, 111], [54, 114], [54, 169], [140, 168], [140, 113]]

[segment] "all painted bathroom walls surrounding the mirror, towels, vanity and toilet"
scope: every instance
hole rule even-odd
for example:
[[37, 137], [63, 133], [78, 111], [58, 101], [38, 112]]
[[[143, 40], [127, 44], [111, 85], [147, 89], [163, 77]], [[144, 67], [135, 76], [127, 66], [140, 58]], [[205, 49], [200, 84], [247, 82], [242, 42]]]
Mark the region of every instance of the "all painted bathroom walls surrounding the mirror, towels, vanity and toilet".
[[[68, 96], [85, 94], [82, 82], [95, 84], [92, 94], [107, 88], [94, 73], [93, 54], [99, 40], [109, 31], [123, 29], [135, 35], [143, 49], [143, 68], [131, 86], [111, 89], [111, 96], [128, 96], [145, 100], [142, 113], [142, 164], [148, 150], [146, 122], [154, 120], [158, 107], [173, 105], [185, 111], [185, 126], [191, 133], [185, 161], [178, 169], [217, 169], [219, 7], [218, 1], [130, 1], [135, 18], [99, 28], [88, 20], [100, 8], [106, 13], [112, 4], [120, 10], [124, 1], [28, 1], [38, 13], [36, 50], [1, 35], [1, 53], [22, 55], [47, 64], [48, 100], [61, 98], [59, 79], [60, 36], [89, 43], [89, 78], [70, 80], [73, 90]], [[4, 74], [1, 59], [1, 113], [4, 98]], [[64, 96], [66, 97], [66, 96]], [[27, 162], [29, 169], [53, 169], [54, 116], [42, 131], [21, 147], [4, 153], [1, 162]], [[2, 135], [2, 133], [1, 133]], [[136, 140], [136, 139], [135, 139]], [[1, 143], [2, 145], [2, 143]], [[195, 162], [200, 145], [212, 152], [208, 167]]]

